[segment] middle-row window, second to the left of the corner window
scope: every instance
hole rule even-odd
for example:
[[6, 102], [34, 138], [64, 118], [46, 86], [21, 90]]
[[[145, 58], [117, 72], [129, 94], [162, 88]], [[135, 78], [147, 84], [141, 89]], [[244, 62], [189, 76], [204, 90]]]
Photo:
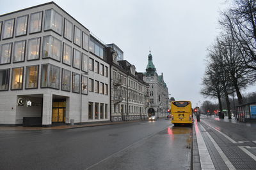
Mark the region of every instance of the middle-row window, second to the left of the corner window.
[[13, 62], [24, 61], [26, 40], [14, 43]]

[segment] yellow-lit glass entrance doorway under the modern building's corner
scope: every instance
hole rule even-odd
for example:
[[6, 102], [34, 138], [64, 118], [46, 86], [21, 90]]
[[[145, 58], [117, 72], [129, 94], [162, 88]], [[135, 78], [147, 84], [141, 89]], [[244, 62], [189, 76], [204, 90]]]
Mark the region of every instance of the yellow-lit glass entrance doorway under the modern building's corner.
[[65, 123], [66, 100], [52, 101], [52, 123]]

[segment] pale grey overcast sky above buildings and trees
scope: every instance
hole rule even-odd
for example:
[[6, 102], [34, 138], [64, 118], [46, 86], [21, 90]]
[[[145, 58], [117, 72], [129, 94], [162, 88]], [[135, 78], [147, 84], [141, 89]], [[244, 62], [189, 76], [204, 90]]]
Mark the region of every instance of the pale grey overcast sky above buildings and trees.
[[[1, 0], [0, 13], [47, 2]], [[136, 71], [145, 71], [151, 48], [157, 73], [163, 73], [169, 94], [176, 100], [190, 100], [193, 106], [205, 100], [199, 91], [206, 48], [218, 35], [218, 18], [226, 0], [54, 2], [104, 43], [119, 46]], [[251, 87], [246, 92], [255, 90]]]

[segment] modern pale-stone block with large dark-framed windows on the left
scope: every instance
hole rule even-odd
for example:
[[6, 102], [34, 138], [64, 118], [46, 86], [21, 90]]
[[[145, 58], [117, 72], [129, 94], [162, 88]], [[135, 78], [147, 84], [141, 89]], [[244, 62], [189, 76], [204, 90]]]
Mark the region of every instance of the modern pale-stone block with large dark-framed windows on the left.
[[0, 15], [0, 125], [108, 121], [105, 48], [53, 2]]

